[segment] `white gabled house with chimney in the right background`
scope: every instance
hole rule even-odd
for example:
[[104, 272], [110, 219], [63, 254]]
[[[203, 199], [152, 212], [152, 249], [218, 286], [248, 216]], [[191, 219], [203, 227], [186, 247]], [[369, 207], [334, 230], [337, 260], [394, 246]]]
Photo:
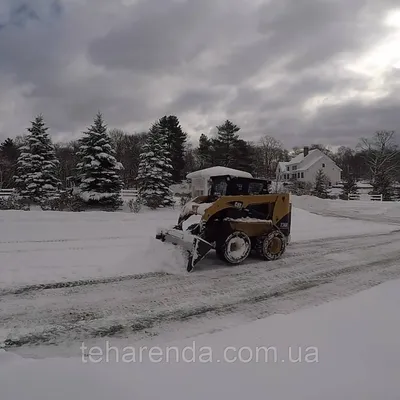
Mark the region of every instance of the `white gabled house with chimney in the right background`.
[[294, 157], [289, 162], [280, 162], [276, 171], [277, 180], [288, 182], [296, 179], [300, 182], [315, 182], [318, 171], [322, 169], [330, 185], [336, 185], [341, 180], [341, 168], [321, 150], [309, 150]]

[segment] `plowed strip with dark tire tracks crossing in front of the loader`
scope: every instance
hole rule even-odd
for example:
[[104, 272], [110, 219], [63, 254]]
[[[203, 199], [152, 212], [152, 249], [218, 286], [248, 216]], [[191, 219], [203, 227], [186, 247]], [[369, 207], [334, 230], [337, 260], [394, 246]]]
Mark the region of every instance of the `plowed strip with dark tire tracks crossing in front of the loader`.
[[[126, 337], [191, 319], [274, 313], [269, 304], [279, 299], [326, 300], [319, 287], [329, 286], [337, 296], [400, 277], [400, 235], [353, 239], [346, 251], [296, 257], [273, 270], [258, 264], [209, 274], [153, 276], [142, 281], [121, 281], [85, 287], [61, 288], [15, 295], [0, 320], [10, 333], [5, 347], [60, 344], [103, 337]], [[358, 243], [357, 243], [358, 241]], [[355, 243], [354, 243], [355, 242]], [[356, 246], [355, 246], [356, 245]], [[340, 259], [345, 254], [348, 260]], [[333, 257], [334, 256], [334, 257]], [[332, 258], [333, 257], [333, 258]], [[335, 257], [339, 257], [338, 260]], [[346, 284], [348, 289], [343, 290]], [[32, 298], [32, 295], [35, 296]], [[90, 301], [88, 301], [88, 299]], [[27, 310], [27, 307], [33, 307]], [[276, 307], [276, 306], [275, 306]], [[24, 333], [19, 333], [19, 329]]]

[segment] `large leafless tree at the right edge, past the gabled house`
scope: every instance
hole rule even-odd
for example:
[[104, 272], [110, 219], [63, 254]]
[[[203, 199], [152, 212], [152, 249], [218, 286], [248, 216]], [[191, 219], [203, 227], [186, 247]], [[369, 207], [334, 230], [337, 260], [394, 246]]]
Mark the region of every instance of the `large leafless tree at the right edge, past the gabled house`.
[[391, 200], [396, 174], [400, 168], [399, 150], [394, 131], [378, 131], [372, 138], [362, 138], [359, 145], [370, 172], [374, 194]]

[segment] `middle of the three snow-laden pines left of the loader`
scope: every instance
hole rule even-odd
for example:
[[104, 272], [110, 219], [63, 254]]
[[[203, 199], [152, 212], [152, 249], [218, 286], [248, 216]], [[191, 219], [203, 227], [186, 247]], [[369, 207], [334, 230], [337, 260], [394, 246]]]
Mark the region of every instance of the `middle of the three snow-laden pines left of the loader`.
[[115, 158], [103, 116], [97, 113], [93, 125], [79, 140], [77, 165], [80, 197], [90, 206], [117, 209], [122, 205], [123, 186], [119, 171], [123, 168]]

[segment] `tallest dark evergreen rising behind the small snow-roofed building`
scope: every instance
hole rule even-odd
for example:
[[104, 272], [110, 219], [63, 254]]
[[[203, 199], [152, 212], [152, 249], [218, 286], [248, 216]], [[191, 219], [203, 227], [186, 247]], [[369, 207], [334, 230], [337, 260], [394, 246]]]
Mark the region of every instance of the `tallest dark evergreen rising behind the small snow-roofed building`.
[[217, 126], [218, 134], [214, 141], [216, 161], [218, 165], [233, 168], [235, 162], [235, 148], [237, 148], [240, 128], [229, 120]]

